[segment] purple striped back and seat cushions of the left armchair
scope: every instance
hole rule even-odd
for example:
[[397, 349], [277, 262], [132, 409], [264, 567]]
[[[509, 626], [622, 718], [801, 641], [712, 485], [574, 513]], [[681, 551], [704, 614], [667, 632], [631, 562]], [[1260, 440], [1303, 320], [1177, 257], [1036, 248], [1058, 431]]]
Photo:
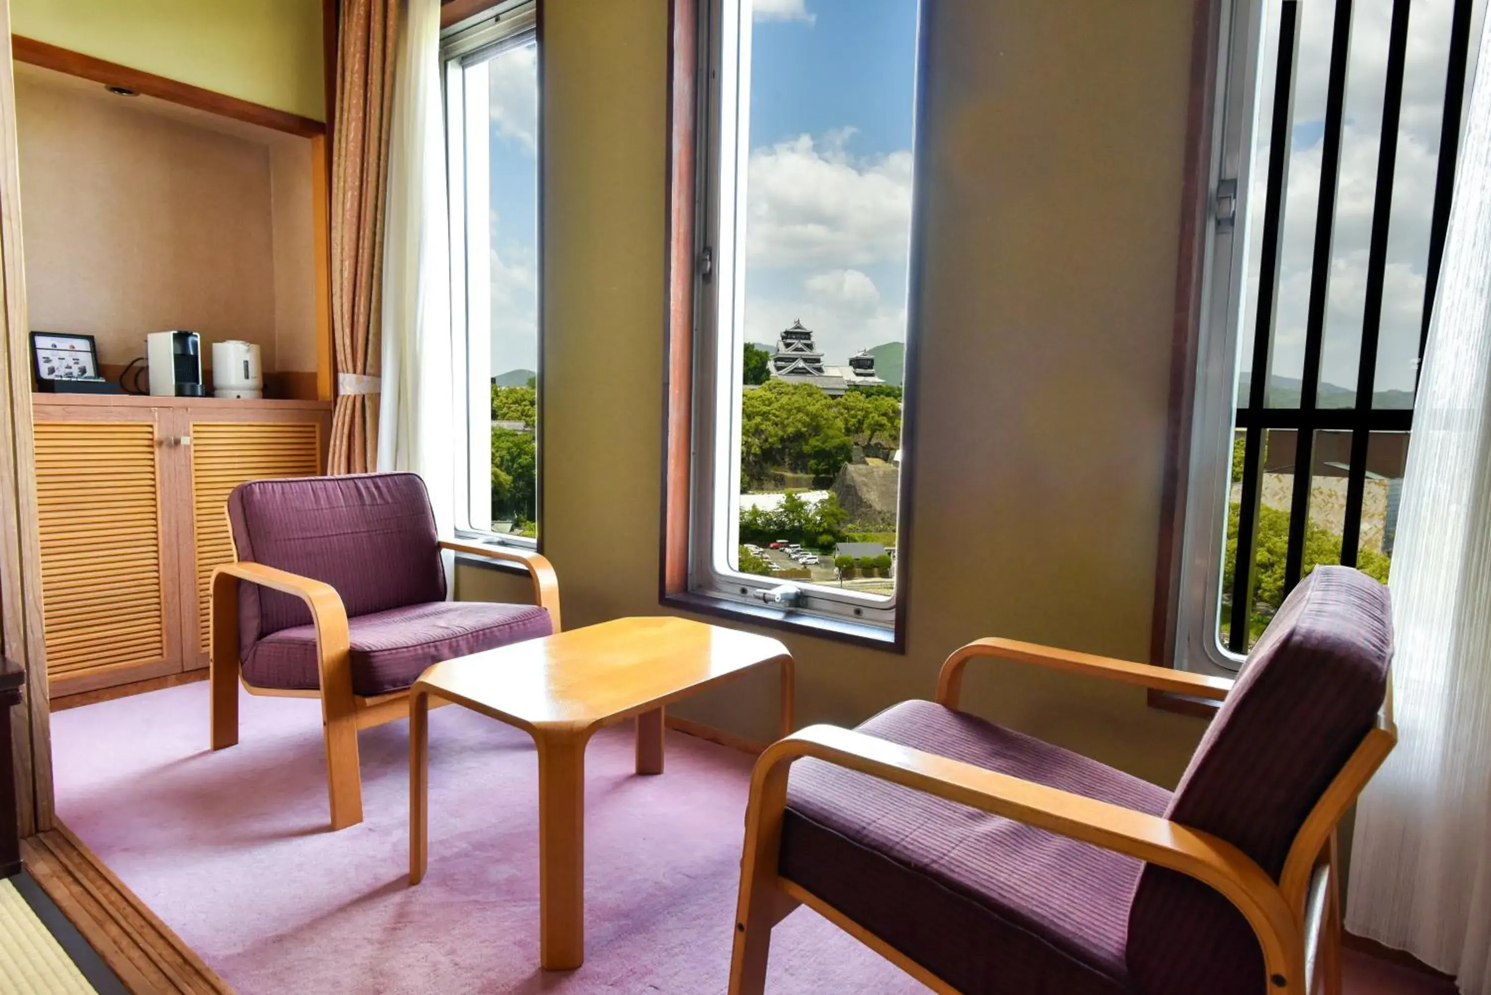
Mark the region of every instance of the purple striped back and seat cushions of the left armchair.
[[[352, 691], [400, 691], [434, 662], [549, 635], [531, 604], [446, 601], [435, 516], [413, 473], [250, 480], [228, 495], [239, 559], [324, 580], [341, 595]], [[283, 691], [321, 686], [306, 604], [239, 585], [243, 677]]]

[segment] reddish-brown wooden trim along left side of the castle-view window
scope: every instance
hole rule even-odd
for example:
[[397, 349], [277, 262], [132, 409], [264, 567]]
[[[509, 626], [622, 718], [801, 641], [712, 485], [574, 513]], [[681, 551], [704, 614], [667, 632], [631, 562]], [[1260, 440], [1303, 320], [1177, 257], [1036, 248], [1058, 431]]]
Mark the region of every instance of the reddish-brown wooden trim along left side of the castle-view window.
[[659, 597], [689, 585], [689, 455], [693, 422], [695, 130], [698, 0], [668, 4], [668, 294], [663, 327], [662, 565]]

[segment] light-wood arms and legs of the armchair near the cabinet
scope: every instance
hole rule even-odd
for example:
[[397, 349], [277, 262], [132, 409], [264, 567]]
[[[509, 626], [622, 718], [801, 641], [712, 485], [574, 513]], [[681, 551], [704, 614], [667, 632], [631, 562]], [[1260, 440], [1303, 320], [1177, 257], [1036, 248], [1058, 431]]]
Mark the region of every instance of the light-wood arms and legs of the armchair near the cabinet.
[[[476, 543], [440, 543], [470, 556], [520, 562], [534, 582], [534, 603], [549, 609], [553, 631], [559, 631], [559, 579], [553, 565], [538, 555], [520, 549], [479, 546]], [[321, 688], [282, 691], [256, 688], [243, 679], [239, 655], [239, 582], [248, 580], [264, 588], [292, 594], [310, 609], [316, 625], [316, 656]], [[409, 691], [380, 695], [358, 695], [352, 691], [352, 658], [347, 631], [347, 610], [341, 595], [321, 580], [276, 570], [256, 562], [224, 564], [212, 571], [212, 749], [221, 750], [239, 741], [239, 685], [249, 694], [282, 698], [321, 698], [321, 721], [327, 741], [327, 792], [331, 798], [331, 828], [344, 829], [362, 822], [362, 773], [358, 758], [358, 729], [383, 725], [409, 716]], [[438, 707], [444, 701], [431, 701]]]

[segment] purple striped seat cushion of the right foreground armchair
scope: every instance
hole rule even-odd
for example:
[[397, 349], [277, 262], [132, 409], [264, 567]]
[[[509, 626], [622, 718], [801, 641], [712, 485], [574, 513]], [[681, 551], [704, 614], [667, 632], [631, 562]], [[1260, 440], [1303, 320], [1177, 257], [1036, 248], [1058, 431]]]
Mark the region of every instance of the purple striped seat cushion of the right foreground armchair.
[[[1160, 814], [1170, 794], [929, 701], [862, 732]], [[780, 873], [963, 992], [1115, 995], [1144, 864], [822, 761], [793, 764]]]

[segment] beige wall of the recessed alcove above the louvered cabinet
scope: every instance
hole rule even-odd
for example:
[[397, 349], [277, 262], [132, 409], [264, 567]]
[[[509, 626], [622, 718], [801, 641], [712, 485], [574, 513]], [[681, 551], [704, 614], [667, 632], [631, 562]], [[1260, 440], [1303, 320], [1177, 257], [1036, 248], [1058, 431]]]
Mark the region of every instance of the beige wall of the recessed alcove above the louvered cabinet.
[[31, 328], [92, 334], [104, 364], [166, 328], [315, 370], [310, 142], [18, 67]]

